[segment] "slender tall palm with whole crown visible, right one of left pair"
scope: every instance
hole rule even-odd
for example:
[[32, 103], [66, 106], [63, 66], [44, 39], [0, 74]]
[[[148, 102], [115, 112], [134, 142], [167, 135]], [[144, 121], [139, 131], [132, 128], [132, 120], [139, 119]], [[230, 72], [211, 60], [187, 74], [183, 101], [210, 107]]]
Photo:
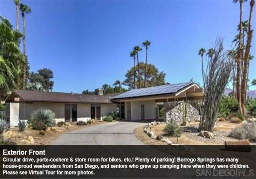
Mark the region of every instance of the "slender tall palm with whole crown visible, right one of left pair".
[[[26, 57], [25, 13], [26, 13], [26, 14], [30, 14], [30, 13], [31, 13], [31, 9], [29, 8], [29, 6], [24, 5], [24, 4], [21, 3], [21, 4], [20, 4], [20, 10], [21, 10], [21, 16], [22, 16], [22, 22], [23, 22], [23, 55]], [[26, 89], [26, 64], [27, 64], [27, 62], [25, 61], [24, 65], [23, 65], [23, 84], [22, 84], [22, 89], [23, 89], [23, 90]]]

